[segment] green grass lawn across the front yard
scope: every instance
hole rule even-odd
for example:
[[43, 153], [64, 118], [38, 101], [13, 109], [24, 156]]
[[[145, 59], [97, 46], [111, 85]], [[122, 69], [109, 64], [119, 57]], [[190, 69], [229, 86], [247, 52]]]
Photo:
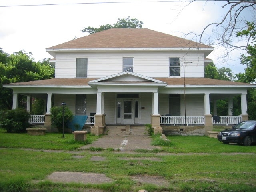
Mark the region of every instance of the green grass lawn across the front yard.
[[[122, 153], [105, 150], [84, 150], [83, 158], [74, 158], [76, 149], [84, 144], [73, 142], [72, 134], [7, 134], [0, 132], [0, 191], [1, 192], [255, 192], [256, 146], [225, 145], [204, 136], [170, 136], [170, 146], [164, 153]], [[89, 136], [89, 140], [98, 137]], [[22, 149], [21, 149], [22, 148]], [[43, 152], [24, 150], [57, 149], [73, 152]], [[172, 153], [166, 153], [172, 152]], [[176, 153], [185, 154], [176, 154]], [[246, 152], [251, 154], [225, 154]], [[175, 154], [174, 154], [175, 153]], [[189, 154], [192, 153], [192, 154]], [[196, 154], [200, 153], [200, 154]], [[91, 161], [92, 156], [104, 161]], [[120, 158], [130, 158], [122, 160]], [[158, 158], [151, 161], [148, 158]], [[136, 158], [142, 158], [140, 160]], [[145, 158], [145, 159], [143, 159]], [[62, 184], [45, 180], [52, 172], [103, 173], [114, 182], [107, 184]], [[130, 176], [161, 176], [168, 186], [155, 186], [133, 181]], [[34, 182], [35, 180], [41, 182]]]

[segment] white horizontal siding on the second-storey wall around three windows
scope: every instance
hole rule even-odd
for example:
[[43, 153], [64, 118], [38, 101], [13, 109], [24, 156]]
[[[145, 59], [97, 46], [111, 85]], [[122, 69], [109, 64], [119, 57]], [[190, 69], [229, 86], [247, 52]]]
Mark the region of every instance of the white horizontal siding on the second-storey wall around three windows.
[[[169, 77], [169, 57], [185, 61], [186, 77], [204, 77], [203, 53], [193, 52], [87, 52], [56, 53], [55, 77], [75, 78], [76, 58], [88, 58], [87, 77], [105, 77], [122, 72], [123, 57], [134, 58], [134, 73], [149, 77]], [[184, 63], [180, 63], [180, 76], [184, 77]]]

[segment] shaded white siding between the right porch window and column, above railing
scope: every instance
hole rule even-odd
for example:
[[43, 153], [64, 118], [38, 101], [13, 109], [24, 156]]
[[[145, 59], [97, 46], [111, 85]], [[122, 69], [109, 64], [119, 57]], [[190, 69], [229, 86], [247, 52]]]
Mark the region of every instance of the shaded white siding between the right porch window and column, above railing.
[[[185, 115], [184, 94], [180, 98], [180, 115]], [[186, 116], [204, 115], [204, 94], [186, 94]]]

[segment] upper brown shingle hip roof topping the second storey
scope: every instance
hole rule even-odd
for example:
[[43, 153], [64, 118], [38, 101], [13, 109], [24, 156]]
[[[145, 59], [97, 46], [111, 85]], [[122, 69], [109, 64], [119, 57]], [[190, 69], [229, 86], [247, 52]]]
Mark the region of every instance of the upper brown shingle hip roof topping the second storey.
[[213, 48], [150, 29], [112, 28], [47, 49], [68, 48]]

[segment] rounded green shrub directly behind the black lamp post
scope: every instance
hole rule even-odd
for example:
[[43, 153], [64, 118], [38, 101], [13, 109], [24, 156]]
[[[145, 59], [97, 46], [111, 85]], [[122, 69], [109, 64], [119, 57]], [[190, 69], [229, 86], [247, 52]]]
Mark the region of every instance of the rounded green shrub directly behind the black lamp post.
[[[65, 114], [64, 114], [64, 126], [68, 127], [66, 123], [73, 119], [73, 113], [68, 108], [65, 107]], [[63, 123], [63, 108], [60, 106], [52, 107], [51, 108], [51, 121], [52, 126], [56, 127], [59, 132], [62, 132], [62, 123]]]

